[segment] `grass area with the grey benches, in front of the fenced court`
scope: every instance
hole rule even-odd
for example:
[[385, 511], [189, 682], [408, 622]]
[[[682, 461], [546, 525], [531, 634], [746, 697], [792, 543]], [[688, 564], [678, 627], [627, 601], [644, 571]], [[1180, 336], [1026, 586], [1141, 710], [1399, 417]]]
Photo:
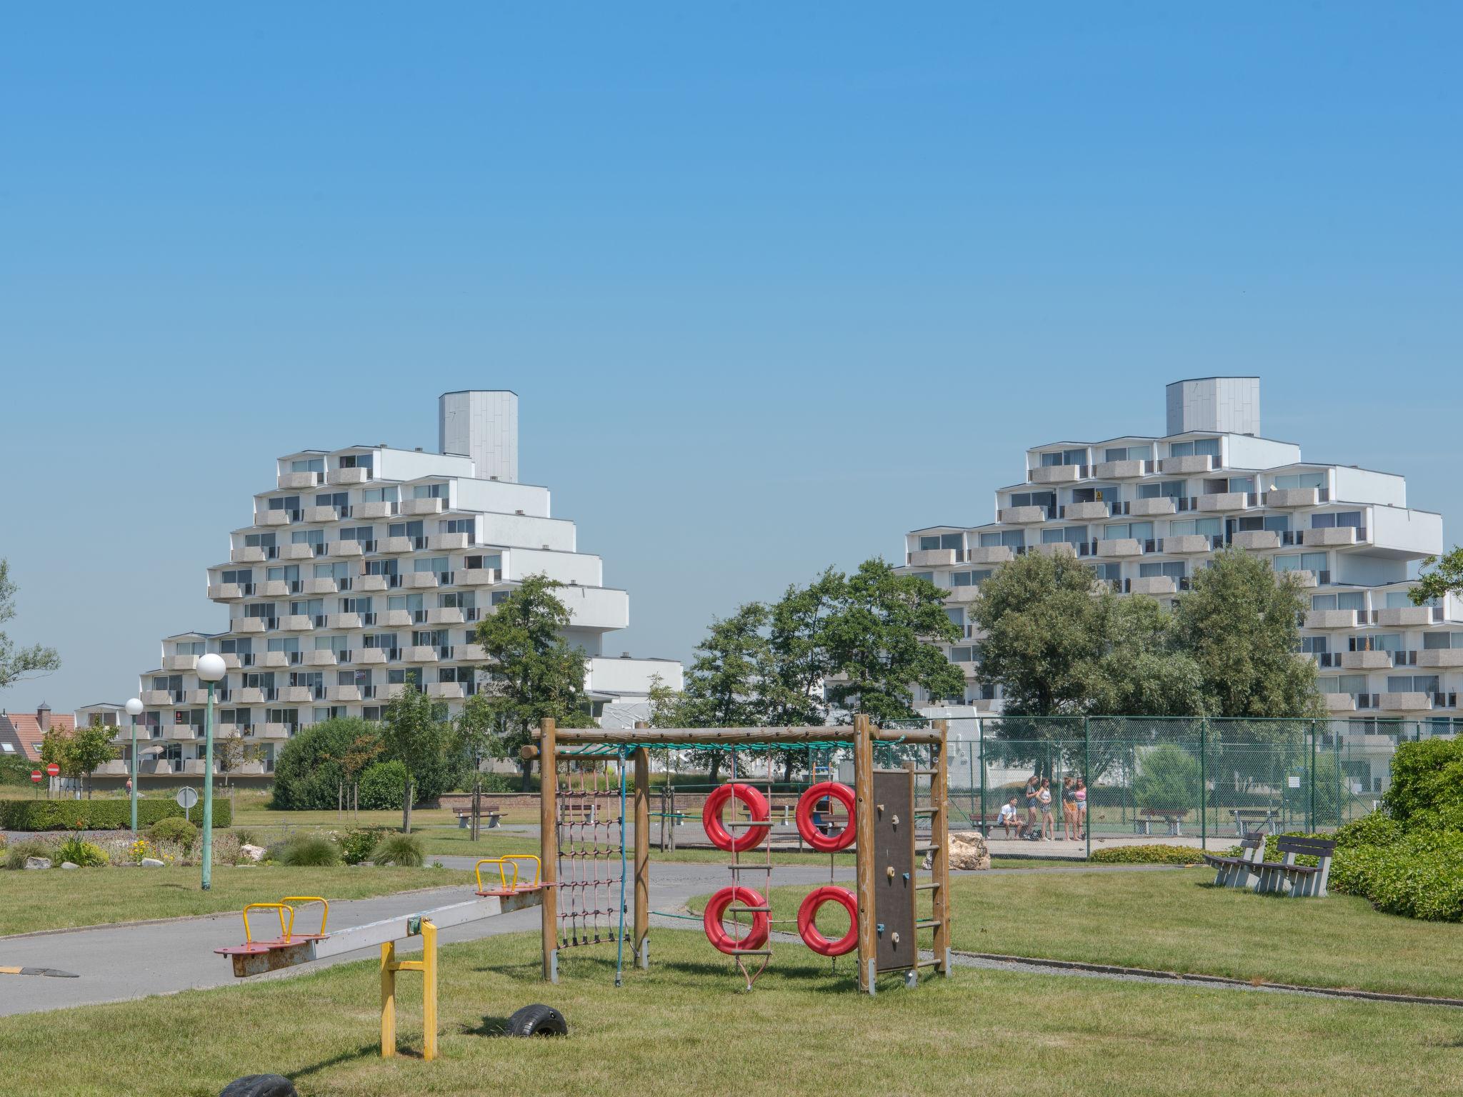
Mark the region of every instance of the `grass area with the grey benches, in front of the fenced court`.
[[[952, 881], [952, 946], [1276, 983], [1463, 996], [1463, 926], [1380, 914], [1365, 900], [1210, 886], [1213, 870], [1020, 873]], [[777, 888], [793, 919], [806, 888]], [[693, 901], [701, 910], [701, 901]], [[923, 908], [923, 904], [922, 904]], [[825, 932], [847, 917], [824, 907]], [[787, 926], [784, 926], [787, 929]], [[920, 938], [928, 940], [926, 936]]]

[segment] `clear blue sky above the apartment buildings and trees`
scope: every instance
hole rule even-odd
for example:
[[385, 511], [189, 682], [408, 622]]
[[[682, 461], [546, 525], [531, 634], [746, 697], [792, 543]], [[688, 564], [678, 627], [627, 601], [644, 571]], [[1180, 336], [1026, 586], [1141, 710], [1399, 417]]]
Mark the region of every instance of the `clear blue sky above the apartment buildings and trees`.
[[12, 709], [218, 629], [301, 446], [522, 398], [609, 648], [990, 515], [1027, 445], [1264, 429], [1463, 540], [1453, 4], [162, 4], [0, 29]]

